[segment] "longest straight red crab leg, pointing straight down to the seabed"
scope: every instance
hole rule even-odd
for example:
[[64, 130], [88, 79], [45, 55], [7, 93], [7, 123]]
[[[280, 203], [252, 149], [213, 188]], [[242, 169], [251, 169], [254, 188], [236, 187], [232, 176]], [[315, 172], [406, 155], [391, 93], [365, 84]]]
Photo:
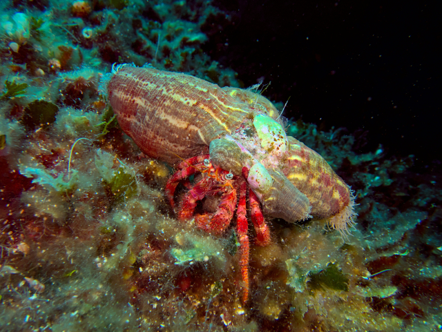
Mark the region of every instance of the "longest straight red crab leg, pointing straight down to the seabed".
[[240, 267], [244, 291], [242, 293], [242, 303], [249, 298], [249, 235], [247, 235], [248, 222], [246, 213], [246, 193], [247, 184], [242, 182], [240, 186], [240, 202], [236, 211], [236, 233], [240, 242]]

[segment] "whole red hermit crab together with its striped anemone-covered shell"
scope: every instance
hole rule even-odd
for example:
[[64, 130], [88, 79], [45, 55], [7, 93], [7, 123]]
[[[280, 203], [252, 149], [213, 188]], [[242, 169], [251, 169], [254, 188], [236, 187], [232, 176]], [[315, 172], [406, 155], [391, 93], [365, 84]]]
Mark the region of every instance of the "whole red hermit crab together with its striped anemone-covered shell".
[[[202, 79], [151, 66], [113, 67], [104, 79], [118, 122], [141, 150], [177, 166], [166, 185], [172, 205], [180, 182], [189, 187], [178, 219], [222, 233], [236, 211], [240, 266], [249, 294], [247, 193], [256, 244], [271, 241], [264, 217], [296, 222], [327, 219], [340, 233], [354, 224], [354, 196], [323, 157], [294, 137], [271, 102], [250, 90], [220, 88]], [[202, 173], [191, 186], [188, 177]], [[215, 213], [195, 215], [198, 201], [221, 194]], [[238, 199], [239, 197], [239, 199]]]

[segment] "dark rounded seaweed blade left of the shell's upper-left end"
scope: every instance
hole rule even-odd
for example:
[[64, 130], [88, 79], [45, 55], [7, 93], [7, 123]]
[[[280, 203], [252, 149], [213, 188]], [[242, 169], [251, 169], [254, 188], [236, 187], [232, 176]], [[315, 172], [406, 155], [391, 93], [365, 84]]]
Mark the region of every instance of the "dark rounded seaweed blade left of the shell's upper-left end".
[[34, 130], [35, 127], [46, 128], [55, 121], [55, 115], [58, 113], [58, 106], [44, 100], [35, 100], [24, 110], [21, 124], [28, 130]]

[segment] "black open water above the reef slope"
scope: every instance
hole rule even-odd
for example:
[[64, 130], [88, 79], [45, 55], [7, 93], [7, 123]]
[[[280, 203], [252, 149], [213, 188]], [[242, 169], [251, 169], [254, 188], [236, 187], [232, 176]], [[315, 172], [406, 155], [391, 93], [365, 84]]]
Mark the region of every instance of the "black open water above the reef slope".
[[213, 31], [205, 50], [244, 86], [271, 81], [266, 97], [290, 97], [286, 117], [356, 131], [366, 141], [358, 153], [383, 144], [390, 155], [435, 166], [442, 159], [439, 3], [215, 1], [231, 24]]

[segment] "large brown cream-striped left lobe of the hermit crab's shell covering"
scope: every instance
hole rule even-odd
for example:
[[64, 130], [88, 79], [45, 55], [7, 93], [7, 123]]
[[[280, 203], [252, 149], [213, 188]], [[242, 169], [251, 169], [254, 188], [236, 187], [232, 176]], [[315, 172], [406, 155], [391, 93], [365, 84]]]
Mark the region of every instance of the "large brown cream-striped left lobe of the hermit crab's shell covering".
[[[107, 90], [122, 130], [146, 155], [169, 163], [177, 162], [177, 155], [200, 154], [250, 114], [278, 117], [270, 101], [253, 92], [151, 67], [121, 66]], [[252, 101], [252, 95], [259, 98]]]

